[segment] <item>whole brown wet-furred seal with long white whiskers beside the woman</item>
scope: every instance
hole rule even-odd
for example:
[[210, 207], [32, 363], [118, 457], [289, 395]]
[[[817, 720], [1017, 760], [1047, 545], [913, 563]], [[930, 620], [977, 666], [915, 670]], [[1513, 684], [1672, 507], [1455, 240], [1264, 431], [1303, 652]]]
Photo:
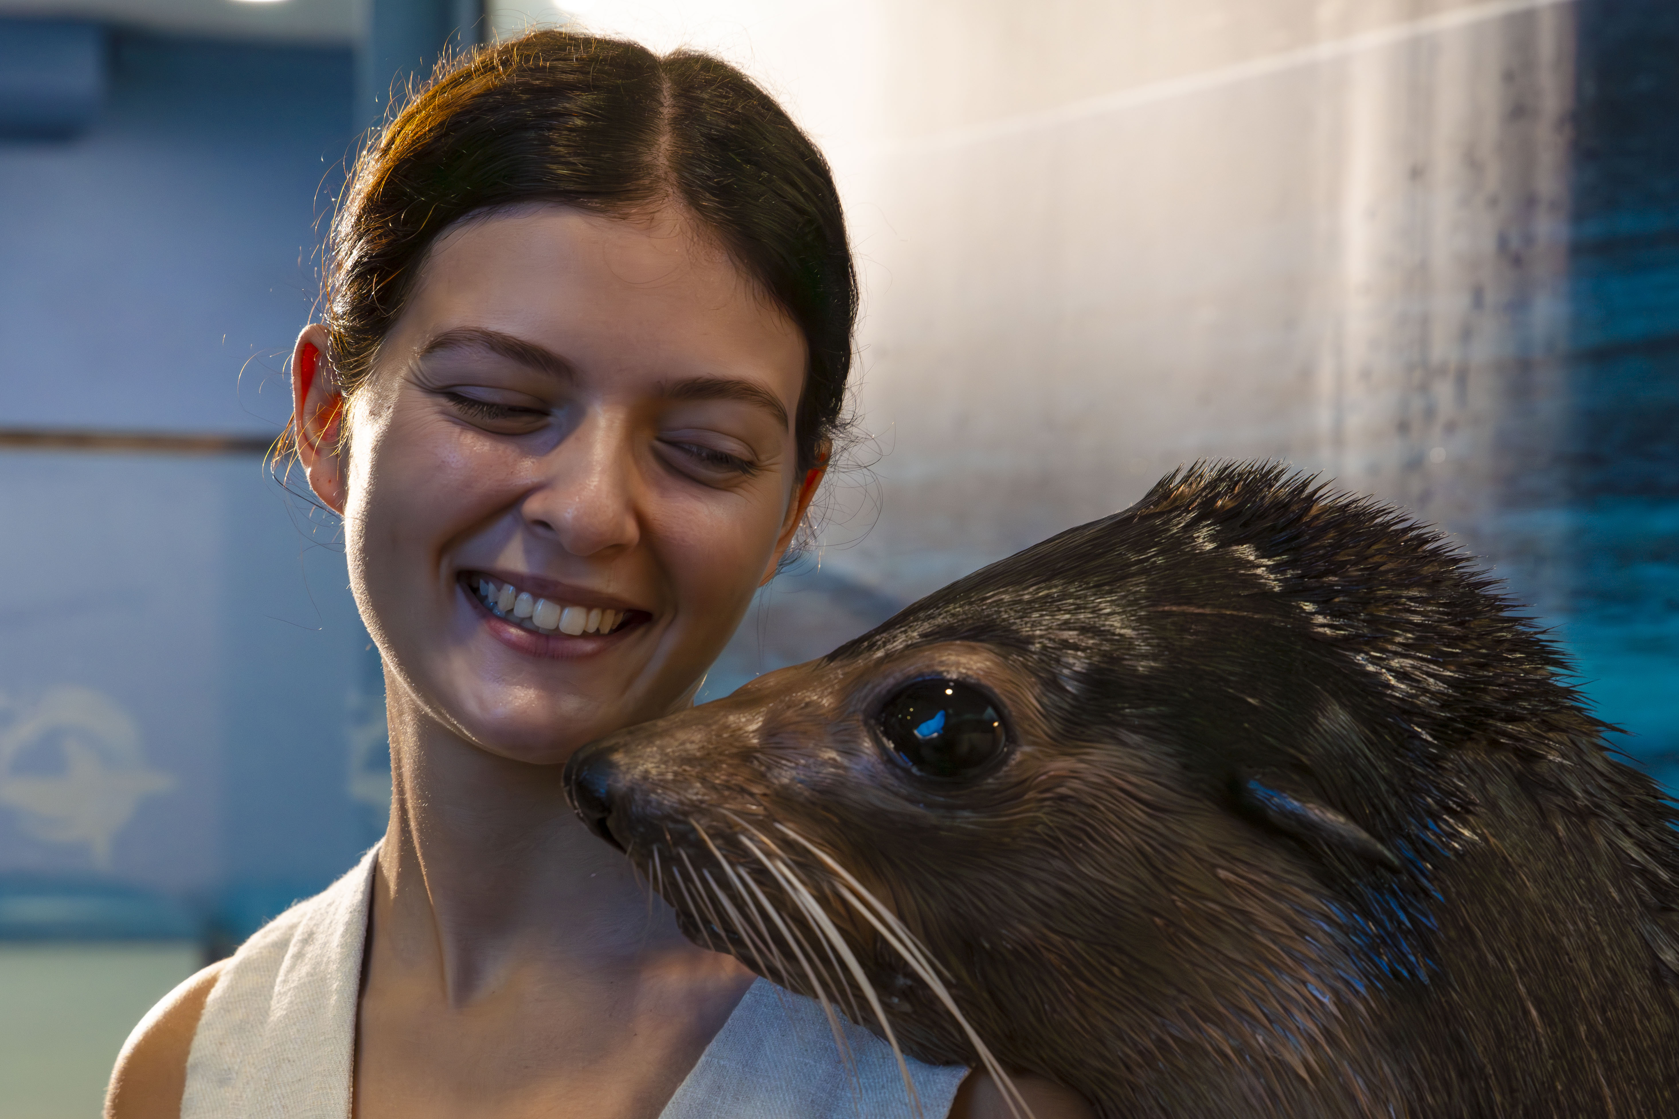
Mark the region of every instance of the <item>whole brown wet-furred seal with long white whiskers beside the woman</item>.
[[1194, 468], [571, 762], [690, 936], [1103, 1116], [1679, 1114], [1674, 809], [1439, 535]]

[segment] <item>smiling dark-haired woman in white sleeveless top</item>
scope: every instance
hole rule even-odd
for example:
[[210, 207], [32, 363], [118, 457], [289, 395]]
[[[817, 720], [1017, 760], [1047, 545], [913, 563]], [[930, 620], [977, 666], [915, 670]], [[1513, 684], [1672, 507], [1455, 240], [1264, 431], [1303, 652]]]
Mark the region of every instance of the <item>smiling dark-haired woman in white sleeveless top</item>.
[[[774, 575], [855, 314], [826, 164], [705, 55], [537, 32], [386, 128], [292, 379], [384, 659], [390, 830], [136, 1027], [107, 1116], [855, 1114], [821, 1013], [688, 943], [559, 783], [690, 703]], [[908, 1114], [848, 1038], [865, 1114]], [[910, 1062], [923, 1114], [1006, 1114], [964, 1074]]]

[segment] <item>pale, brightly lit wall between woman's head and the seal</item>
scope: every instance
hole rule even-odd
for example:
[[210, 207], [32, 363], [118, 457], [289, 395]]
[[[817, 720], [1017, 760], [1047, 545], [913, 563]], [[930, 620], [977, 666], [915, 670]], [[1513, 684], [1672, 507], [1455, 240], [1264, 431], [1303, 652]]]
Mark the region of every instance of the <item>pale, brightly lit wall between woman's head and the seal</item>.
[[[1276, 456], [1556, 597], [1558, 530], [1523, 510], [1567, 423], [1572, 5], [564, 7], [734, 60], [834, 164], [885, 456], [829, 579], [905, 601], [1179, 463]], [[834, 636], [751, 641], [769, 666]]]

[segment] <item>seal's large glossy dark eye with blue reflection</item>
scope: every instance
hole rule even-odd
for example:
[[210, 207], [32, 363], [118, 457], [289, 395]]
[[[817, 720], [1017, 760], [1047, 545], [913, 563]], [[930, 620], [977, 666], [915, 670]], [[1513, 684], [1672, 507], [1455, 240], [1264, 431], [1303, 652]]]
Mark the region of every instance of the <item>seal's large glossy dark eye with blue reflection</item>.
[[917, 679], [880, 708], [880, 733], [893, 753], [925, 777], [967, 777], [1006, 740], [997, 706], [960, 679]]

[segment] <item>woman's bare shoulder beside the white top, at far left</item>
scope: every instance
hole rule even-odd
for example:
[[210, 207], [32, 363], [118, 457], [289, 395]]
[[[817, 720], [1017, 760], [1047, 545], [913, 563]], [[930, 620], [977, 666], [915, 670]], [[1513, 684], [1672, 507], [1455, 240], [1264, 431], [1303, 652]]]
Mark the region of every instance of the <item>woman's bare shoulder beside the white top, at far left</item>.
[[181, 1114], [186, 1057], [227, 963], [217, 960], [188, 976], [128, 1035], [106, 1090], [106, 1119], [176, 1119]]

